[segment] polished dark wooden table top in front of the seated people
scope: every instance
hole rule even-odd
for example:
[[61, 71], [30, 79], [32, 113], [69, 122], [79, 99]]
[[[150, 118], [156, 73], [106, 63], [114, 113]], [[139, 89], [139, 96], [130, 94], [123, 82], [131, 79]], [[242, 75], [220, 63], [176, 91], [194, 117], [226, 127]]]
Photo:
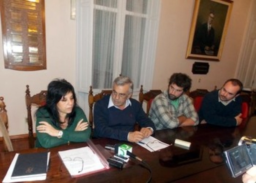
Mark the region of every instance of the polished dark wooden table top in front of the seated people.
[[[157, 152], [149, 152], [143, 147], [128, 143], [133, 146], [133, 153], [145, 160], [152, 170], [153, 183], [241, 183], [241, 176], [233, 178], [221, 152], [236, 146], [244, 135], [255, 137], [256, 117], [239, 127], [224, 128], [208, 124], [196, 127], [180, 127], [177, 129], [160, 130], [154, 137], [169, 144], [174, 144], [175, 139], [191, 142], [190, 149], [182, 149], [177, 146], [169, 146]], [[94, 144], [105, 147], [106, 144], [120, 143], [111, 139], [93, 139]], [[50, 149], [51, 162], [47, 172], [47, 180], [40, 182], [138, 182], [148, 180], [149, 172], [140, 166], [140, 163], [130, 160], [122, 169], [111, 168], [94, 174], [78, 178], [71, 178], [64, 164], [62, 164], [58, 151], [87, 146], [87, 143], [72, 143]], [[27, 149], [18, 153], [42, 152], [47, 149]], [[7, 170], [17, 152], [0, 153], [0, 179], [6, 175]]]

